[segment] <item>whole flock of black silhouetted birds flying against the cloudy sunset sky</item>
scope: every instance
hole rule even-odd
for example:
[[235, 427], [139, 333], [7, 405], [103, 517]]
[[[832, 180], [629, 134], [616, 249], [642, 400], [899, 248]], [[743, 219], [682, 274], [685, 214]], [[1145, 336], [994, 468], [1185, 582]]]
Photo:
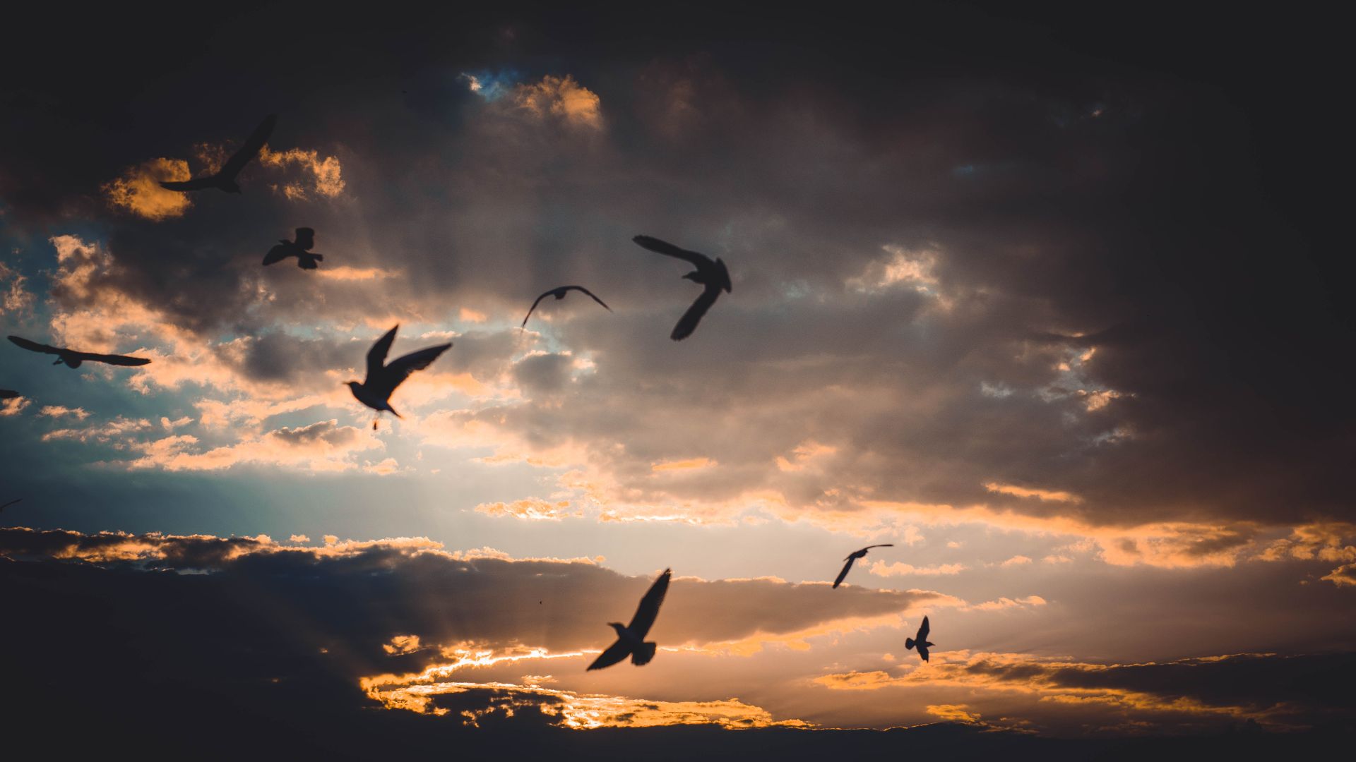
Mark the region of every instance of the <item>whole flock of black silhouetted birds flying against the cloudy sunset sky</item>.
[[[259, 126], [250, 134], [244, 145], [240, 146], [240, 149], [236, 151], [214, 174], [188, 180], [164, 180], [160, 186], [165, 190], [180, 193], [206, 188], [217, 188], [225, 193], [241, 193], [240, 184], [236, 182], [236, 176], [259, 155], [260, 151], [263, 151], [263, 146], [273, 134], [273, 129], [277, 122], [278, 117], [275, 114], [266, 117], [263, 122], [260, 122]], [[278, 241], [278, 245], [268, 249], [268, 254], [264, 255], [263, 264], [274, 264], [296, 256], [297, 266], [302, 270], [319, 268], [319, 263], [324, 260], [324, 255], [311, 251], [315, 248], [315, 235], [316, 232], [312, 228], [297, 228], [296, 240]], [[674, 325], [673, 332], [669, 335], [670, 339], [681, 342], [682, 339], [690, 336], [692, 332], [697, 329], [697, 324], [701, 323], [702, 316], [705, 316], [711, 306], [716, 304], [716, 298], [720, 296], [720, 292], [732, 293], [730, 270], [721, 259], [712, 259], [704, 254], [687, 251], [651, 236], [636, 236], [632, 240], [645, 249], [682, 259], [696, 267], [696, 270], [687, 273], [683, 278], [701, 285], [702, 292], [692, 306], [689, 306], [682, 315], [682, 317], [678, 319], [677, 325]], [[565, 298], [565, 294], [572, 290], [591, 297], [595, 302], [602, 305], [603, 309], [612, 312], [612, 308], [607, 306], [606, 302], [583, 286], [559, 286], [542, 293], [536, 301], [532, 302], [532, 308], [527, 309], [527, 316], [522, 319], [522, 327], [527, 325], [527, 319], [532, 317], [532, 313], [537, 309], [537, 305], [541, 304], [541, 300], [546, 297], [556, 297], [559, 301]], [[396, 331], [399, 328], [400, 325], [397, 324], [391, 331], [386, 331], [386, 334], [381, 336], [381, 339], [377, 339], [377, 343], [367, 351], [366, 377], [362, 381], [347, 382], [348, 389], [359, 403], [377, 411], [377, 419], [372, 422], [372, 427], [374, 430], [377, 428], [377, 423], [381, 419], [382, 412], [391, 412], [396, 418], [400, 418], [396, 408], [391, 407], [391, 395], [396, 390], [396, 388], [404, 382], [411, 373], [428, 367], [442, 353], [452, 348], [452, 343], [449, 342], [446, 344], [424, 347], [386, 362], [386, 355], [391, 353], [391, 344], [395, 343]], [[42, 344], [24, 339], [22, 336], [9, 336], [9, 340], [28, 351], [57, 355], [53, 365], [65, 363], [68, 367], [80, 367], [80, 365], [85, 362], [103, 362], [107, 365], [129, 367], [151, 362], [151, 359], [140, 357], [87, 353], [69, 347], [53, 347], [50, 344]], [[15, 399], [19, 396], [19, 392], [0, 389], [0, 400]], [[0, 506], [0, 511], [18, 502], [19, 500], [11, 500], [4, 503]], [[843, 559], [846, 563], [843, 564], [842, 571], [838, 572], [838, 578], [834, 579], [834, 588], [842, 584], [848, 572], [852, 569], [853, 563], [857, 561], [857, 559], [865, 557], [868, 550], [872, 548], [892, 546], [894, 544], [890, 542], [868, 545], [860, 550], [849, 553], [848, 557]], [[669, 591], [670, 576], [671, 569], [664, 569], [663, 574], [659, 575], [659, 579], [650, 586], [644, 598], [640, 599], [640, 606], [636, 609], [636, 614], [631, 618], [629, 624], [622, 625], [621, 622], [607, 622], [607, 626], [617, 632], [617, 640], [599, 654], [591, 664], [589, 664], [589, 670], [610, 667], [622, 662], [628, 656], [631, 656], [631, 662], [636, 666], [647, 664], [651, 659], [654, 659], [658, 645], [654, 641], [647, 641], [645, 636], [650, 633], [650, 628], [655, 624], [655, 618], [659, 616], [659, 606], [663, 603], [664, 594]], [[928, 660], [928, 648], [933, 645], [928, 641], [928, 617], [923, 617], [922, 626], [918, 628], [918, 635], [904, 640], [904, 647], [907, 649], [917, 648], [918, 655], [923, 662]]]

